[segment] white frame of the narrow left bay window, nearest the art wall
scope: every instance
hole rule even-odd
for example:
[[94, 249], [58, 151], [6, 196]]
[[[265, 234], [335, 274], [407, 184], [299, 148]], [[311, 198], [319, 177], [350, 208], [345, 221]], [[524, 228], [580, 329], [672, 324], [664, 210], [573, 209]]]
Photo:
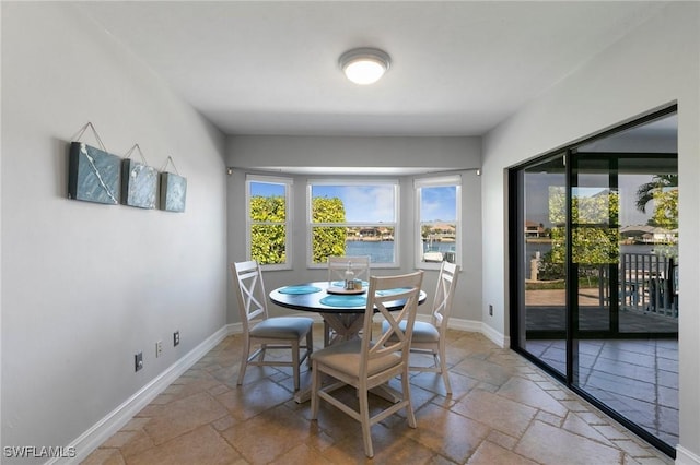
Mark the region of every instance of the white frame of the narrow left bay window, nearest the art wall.
[[[250, 184], [252, 183], [268, 183], [268, 184], [281, 184], [284, 186], [284, 208], [285, 220], [282, 222], [254, 222], [250, 217]], [[292, 187], [294, 184], [293, 178], [264, 176], [264, 175], [250, 175], [247, 174], [245, 178], [245, 247], [247, 260], [253, 260], [252, 255], [252, 228], [254, 225], [283, 225], [285, 229], [284, 235], [284, 254], [287, 260], [284, 263], [260, 264], [262, 270], [292, 270], [293, 267], [293, 250], [292, 250], [292, 230], [294, 226], [293, 207], [292, 207]]]

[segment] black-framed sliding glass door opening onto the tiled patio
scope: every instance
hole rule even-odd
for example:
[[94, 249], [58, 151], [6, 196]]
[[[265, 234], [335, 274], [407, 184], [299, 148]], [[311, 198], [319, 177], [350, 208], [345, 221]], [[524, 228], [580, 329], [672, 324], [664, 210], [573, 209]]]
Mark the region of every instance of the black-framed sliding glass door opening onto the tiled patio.
[[673, 455], [675, 112], [511, 171], [513, 348]]

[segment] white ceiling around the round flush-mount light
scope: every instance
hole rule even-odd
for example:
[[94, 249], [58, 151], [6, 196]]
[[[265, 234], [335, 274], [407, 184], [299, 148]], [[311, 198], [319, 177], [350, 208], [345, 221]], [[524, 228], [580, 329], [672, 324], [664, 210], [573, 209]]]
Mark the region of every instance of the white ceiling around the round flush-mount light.
[[[226, 134], [481, 135], [663, 8], [641, 1], [77, 2]], [[386, 50], [358, 86], [346, 50]]]

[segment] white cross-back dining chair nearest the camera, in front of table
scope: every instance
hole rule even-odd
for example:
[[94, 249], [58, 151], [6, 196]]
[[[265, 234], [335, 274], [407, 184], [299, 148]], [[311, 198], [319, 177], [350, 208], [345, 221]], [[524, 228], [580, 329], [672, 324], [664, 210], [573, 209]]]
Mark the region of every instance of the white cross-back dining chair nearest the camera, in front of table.
[[[311, 356], [311, 418], [318, 419], [319, 400], [324, 400], [359, 421], [362, 425], [362, 439], [368, 457], [374, 456], [372, 425], [406, 408], [408, 426], [416, 428], [408, 363], [422, 279], [422, 271], [399, 276], [371, 276], [362, 337], [332, 344], [314, 351]], [[399, 309], [389, 311], [387, 303], [396, 301], [402, 301], [402, 305], [399, 305]], [[375, 320], [380, 324], [386, 322], [389, 330], [373, 332]], [[401, 326], [401, 320], [406, 320], [408, 324]], [[389, 342], [389, 337], [394, 337], [394, 342]], [[329, 375], [337, 382], [322, 386], [324, 375]], [[400, 398], [380, 412], [375, 412], [375, 406], [372, 406], [373, 415], [370, 416], [369, 391], [396, 377], [401, 378]], [[357, 398], [354, 394], [346, 398], [352, 404], [359, 401], [359, 408], [345, 403], [342, 393], [334, 395], [334, 391], [346, 385], [357, 390]]]

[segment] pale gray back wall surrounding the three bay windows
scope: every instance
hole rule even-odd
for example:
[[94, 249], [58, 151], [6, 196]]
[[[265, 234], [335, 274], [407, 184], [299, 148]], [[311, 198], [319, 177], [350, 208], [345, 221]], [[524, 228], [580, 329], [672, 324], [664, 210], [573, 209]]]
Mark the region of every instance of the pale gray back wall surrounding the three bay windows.
[[[479, 138], [332, 138], [332, 136], [230, 136], [228, 164], [235, 166], [229, 180], [229, 259], [246, 259], [245, 223], [245, 174], [260, 172], [250, 167], [275, 166], [362, 166], [362, 167], [430, 167], [431, 170], [456, 170], [462, 175], [464, 228], [463, 264], [457, 295], [453, 308], [455, 320], [480, 321], [477, 302], [481, 296], [481, 178], [476, 175], [481, 160]], [[246, 169], [247, 168], [247, 169]], [[281, 176], [280, 174], [276, 174]], [[318, 179], [319, 176], [313, 176]], [[308, 176], [293, 176], [294, 230], [291, 271], [266, 273], [265, 285], [269, 289], [290, 283], [323, 281], [324, 270], [306, 267], [305, 201]], [[366, 178], [363, 178], [366, 179]], [[378, 270], [377, 274], [405, 273], [413, 270], [413, 177], [400, 177], [399, 250], [400, 270]], [[438, 272], [428, 272], [424, 288], [436, 285]], [[429, 296], [431, 299], [432, 296]], [[275, 311], [275, 310], [273, 310]], [[419, 312], [427, 312], [428, 306]], [[238, 310], [233, 290], [229, 295], [229, 321], [237, 322]]]

